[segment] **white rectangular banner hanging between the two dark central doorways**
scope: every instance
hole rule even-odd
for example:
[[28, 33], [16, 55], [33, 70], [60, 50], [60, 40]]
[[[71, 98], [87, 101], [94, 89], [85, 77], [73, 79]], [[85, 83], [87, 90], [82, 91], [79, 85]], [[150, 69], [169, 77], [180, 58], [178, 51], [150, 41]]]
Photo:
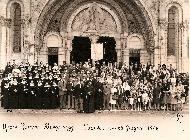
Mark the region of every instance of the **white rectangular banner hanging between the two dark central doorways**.
[[91, 44], [91, 59], [97, 61], [103, 59], [103, 44]]

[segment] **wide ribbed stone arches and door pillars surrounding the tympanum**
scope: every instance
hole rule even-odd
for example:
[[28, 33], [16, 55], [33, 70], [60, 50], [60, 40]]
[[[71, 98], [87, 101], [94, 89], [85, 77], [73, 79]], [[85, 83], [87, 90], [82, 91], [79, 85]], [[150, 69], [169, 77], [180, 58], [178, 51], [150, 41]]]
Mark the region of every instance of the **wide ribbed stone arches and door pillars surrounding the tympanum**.
[[[75, 18], [77, 15], [80, 15], [81, 12], [85, 10], [88, 11], [89, 5], [93, 5], [93, 3], [98, 5], [97, 9], [103, 10], [104, 13], [109, 14], [112, 18], [114, 17], [112, 20], [116, 25], [120, 24], [120, 27], [116, 26], [117, 32], [104, 33], [93, 32], [92, 30], [92, 32], [86, 32], [88, 30], [86, 30], [85, 27], [84, 31], [78, 32], [73, 29], [81, 29], [80, 27], [75, 26], [75, 28], [72, 28], [72, 26], [69, 26], [72, 25], [73, 21], [77, 20], [77, 18]], [[91, 8], [93, 8], [93, 6], [91, 6]], [[135, 26], [133, 25], [134, 23], [136, 24]], [[70, 62], [71, 43], [74, 35], [88, 36], [91, 42], [96, 42], [100, 35], [114, 37], [119, 62], [123, 61], [123, 50], [126, 48], [125, 42], [128, 34], [139, 33], [143, 35], [145, 48], [148, 51], [152, 51], [154, 47], [152, 22], [141, 0], [50, 0], [44, 7], [35, 30], [35, 44], [38, 45], [38, 50], [43, 47], [44, 37], [50, 31], [56, 31], [61, 34], [63, 40], [62, 47], [65, 50], [65, 60], [67, 62]]]

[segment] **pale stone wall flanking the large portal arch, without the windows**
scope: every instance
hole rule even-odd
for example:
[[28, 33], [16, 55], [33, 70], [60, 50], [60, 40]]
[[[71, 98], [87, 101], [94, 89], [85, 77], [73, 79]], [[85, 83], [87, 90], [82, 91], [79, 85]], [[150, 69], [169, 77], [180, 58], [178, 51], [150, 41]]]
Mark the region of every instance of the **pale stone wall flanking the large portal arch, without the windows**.
[[[0, 69], [4, 68], [6, 62], [16, 59], [16, 61], [20, 62], [25, 59], [25, 48], [29, 45], [31, 48], [38, 47], [35, 42], [35, 32], [37, 25], [41, 25], [41, 22], [38, 22], [40, 16], [43, 16], [43, 11], [48, 11], [51, 7], [47, 5], [51, 5], [56, 0], [1, 0], [0, 1]], [[11, 32], [10, 32], [10, 14], [9, 9], [10, 3], [18, 2], [22, 5], [22, 52], [20, 54], [14, 54], [11, 51]], [[116, 1], [118, 4], [124, 3], [124, 0]], [[176, 67], [178, 67], [180, 72], [188, 71], [187, 63], [188, 63], [188, 28], [189, 28], [189, 21], [188, 21], [188, 0], [135, 0], [135, 2], [142, 7], [147, 12], [149, 19], [152, 23], [152, 30], [154, 32], [153, 40], [155, 45], [153, 46], [154, 49], [154, 64], [163, 64], [163, 63], [172, 63]], [[170, 6], [175, 5], [179, 8], [179, 18], [180, 20], [180, 40], [179, 40], [179, 58], [168, 57], [167, 56], [167, 10]], [[127, 11], [125, 11], [127, 12]], [[45, 15], [44, 15], [45, 16]], [[59, 17], [59, 16], [58, 16]], [[158, 20], [159, 19], [159, 20]], [[127, 17], [128, 21], [128, 29], [131, 33], [138, 33], [140, 30], [140, 24], [135, 24], [136, 19], [128, 14]], [[158, 22], [159, 21], [159, 22]], [[52, 26], [50, 26], [53, 28]], [[53, 28], [53, 30], [56, 28]], [[148, 39], [148, 38], [146, 38]], [[27, 42], [27, 43], [26, 43]], [[151, 44], [145, 44], [145, 48], [150, 48]], [[65, 44], [63, 45], [65, 46]], [[43, 48], [45, 49], [45, 48]], [[149, 51], [149, 50], [147, 50]], [[31, 54], [28, 58], [30, 61], [34, 61], [39, 59], [39, 61], [47, 61], [47, 54], [45, 51], [41, 52], [41, 55], [38, 56], [35, 53], [36, 50]], [[122, 51], [121, 51], [122, 52]], [[35, 54], [34, 54], [35, 53]], [[60, 59], [59, 63], [62, 63], [62, 60], [67, 59], [64, 57], [66, 51], [65, 48], [60, 49]], [[123, 53], [123, 52], [122, 52]], [[7, 55], [6, 55], [7, 54]], [[123, 54], [126, 54], [124, 52]], [[145, 63], [149, 61], [149, 56], [145, 56], [142, 53], [142, 62]], [[182, 57], [181, 55], [182, 54]], [[62, 57], [61, 57], [62, 56]], [[35, 57], [35, 58], [34, 58]], [[39, 57], [39, 58], [38, 58]], [[123, 57], [123, 60], [128, 61], [126, 58], [127, 55]]]

